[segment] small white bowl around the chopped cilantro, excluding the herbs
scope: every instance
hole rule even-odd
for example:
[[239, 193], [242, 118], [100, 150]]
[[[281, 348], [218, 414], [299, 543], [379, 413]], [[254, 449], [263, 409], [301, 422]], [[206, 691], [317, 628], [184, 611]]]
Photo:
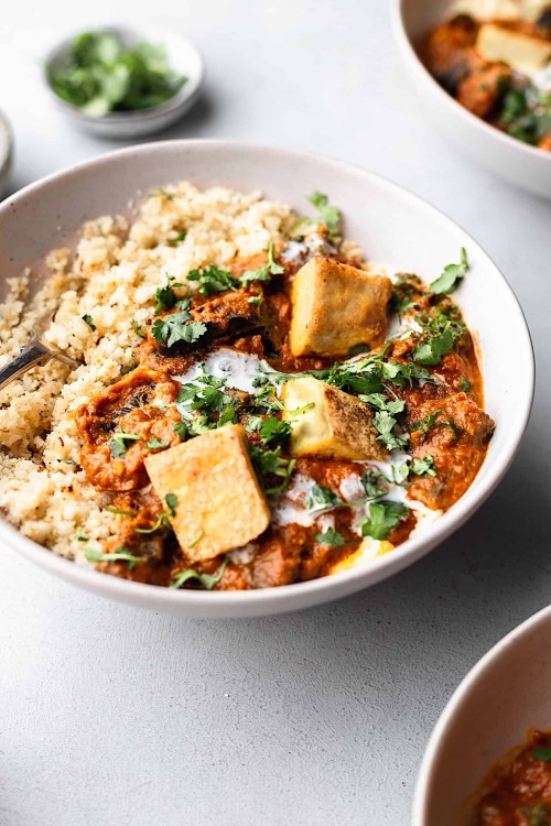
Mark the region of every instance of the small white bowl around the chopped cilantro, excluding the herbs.
[[44, 80], [57, 108], [77, 127], [100, 138], [115, 140], [132, 140], [153, 134], [180, 120], [197, 100], [205, 76], [203, 57], [194, 44], [176, 32], [152, 26], [142, 30], [108, 25], [104, 26], [102, 31], [111, 32], [127, 45], [140, 41], [162, 44], [166, 48], [169, 65], [176, 74], [185, 75], [186, 83], [165, 104], [153, 106], [150, 109], [110, 112], [101, 117], [86, 115], [77, 107], [63, 100], [52, 88], [48, 78], [52, 68], [60, 68], [64, 65], [72, 42], [79, 33], [75, 32], [52, 48], [44, 61]]

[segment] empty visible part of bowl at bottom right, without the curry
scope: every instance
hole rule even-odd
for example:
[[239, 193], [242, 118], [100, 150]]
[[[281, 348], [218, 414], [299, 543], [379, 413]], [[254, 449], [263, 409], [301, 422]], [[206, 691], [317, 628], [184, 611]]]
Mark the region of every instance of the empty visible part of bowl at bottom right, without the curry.
[[440, 718], [415, 789], [412, 826], [471, 826], [493, 764], [531, 728], [551, 728], [551, 607], [497, 643]]

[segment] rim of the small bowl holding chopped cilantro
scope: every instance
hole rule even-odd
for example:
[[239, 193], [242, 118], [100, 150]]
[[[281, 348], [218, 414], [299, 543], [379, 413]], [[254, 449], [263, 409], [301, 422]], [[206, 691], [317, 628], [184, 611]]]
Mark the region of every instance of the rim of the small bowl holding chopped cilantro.
[[107, 22], [102, 26], [90, 29], [80, 28], [72, 30], [68, 34], [64, 35], [61, 40], [56, 41], [53, 45], [50, 46], [41, 62], [43, 83], [55, 104], [63, 111], [77, 118], [78, 120], [90, 124], [107, 123], [114, 127], [132, 124], [138, 120], [154, 121], [156, 120], [156, 118], [162, 118], [168, 112], [176, 111], [181, 107], [190, 104], [190, 101], [198, 95], [201, 88], [203, 87], [203, 84], [205, 81], [205, 61], [203, 54], [197, 48], [194, 41], [177, 31], [169, 31], [165, 26], [154, 25], [148, 28], [149, 40], [162, 41], [163, 37], [170, 36], [171, 39], [179, 40], [181, 43], [185, 43], [186, 48], [194, 54], [197, 63], [197, 70], [193, 73], [192, 76], [188, 76], [186, 83], [174, 95], [172, 95], [172, 97], [170, 97], [168, 100], [164, 100], [162, 104], [155, 104], [155, 106], [150, 106], [147, 109], [130, 109], [128, 111], [121, 112], [107, 112], [107, 115], [100, 115], [99, 117], [95, 115], [87, 115], [77, 106], [69, 104], [68, 100], [65, 100], [64, 98], [60, 97], [60, 95], [57, 95], [50, 81], [50, 66], [60, 54], [62, 54], [71, 46], [71, 43], [75, 37], [77, 37], [79, 34], [85, 34], [87, 31], [93, 30], [97, 32], [125, 32], [130, 35], [140, 35], [143, 32], [144, 35], [144, 31], [141, 25], [132, 26], [127, 25], [126, 23], [111, 21]]

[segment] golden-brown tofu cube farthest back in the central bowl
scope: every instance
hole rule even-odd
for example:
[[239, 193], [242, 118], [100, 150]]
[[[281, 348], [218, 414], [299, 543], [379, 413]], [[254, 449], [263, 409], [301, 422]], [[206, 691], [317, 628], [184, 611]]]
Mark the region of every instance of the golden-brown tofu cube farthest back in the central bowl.
[[383, 275], [324, 258], [311, 259], [291, 287], [291, 352], [339, 356], [359, 344], [382, 344], [390, 293], [390, 279]]

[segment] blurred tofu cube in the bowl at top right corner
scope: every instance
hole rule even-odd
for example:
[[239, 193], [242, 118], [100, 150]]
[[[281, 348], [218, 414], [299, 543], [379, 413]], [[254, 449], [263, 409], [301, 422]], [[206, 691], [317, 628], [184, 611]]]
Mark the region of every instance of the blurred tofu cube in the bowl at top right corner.
[[480, 26], [475, 48], [485, 61], [506, 63], [516, 72], [531, 75], [551, 59], [551, 43], [514, 32], [495, 23]]

